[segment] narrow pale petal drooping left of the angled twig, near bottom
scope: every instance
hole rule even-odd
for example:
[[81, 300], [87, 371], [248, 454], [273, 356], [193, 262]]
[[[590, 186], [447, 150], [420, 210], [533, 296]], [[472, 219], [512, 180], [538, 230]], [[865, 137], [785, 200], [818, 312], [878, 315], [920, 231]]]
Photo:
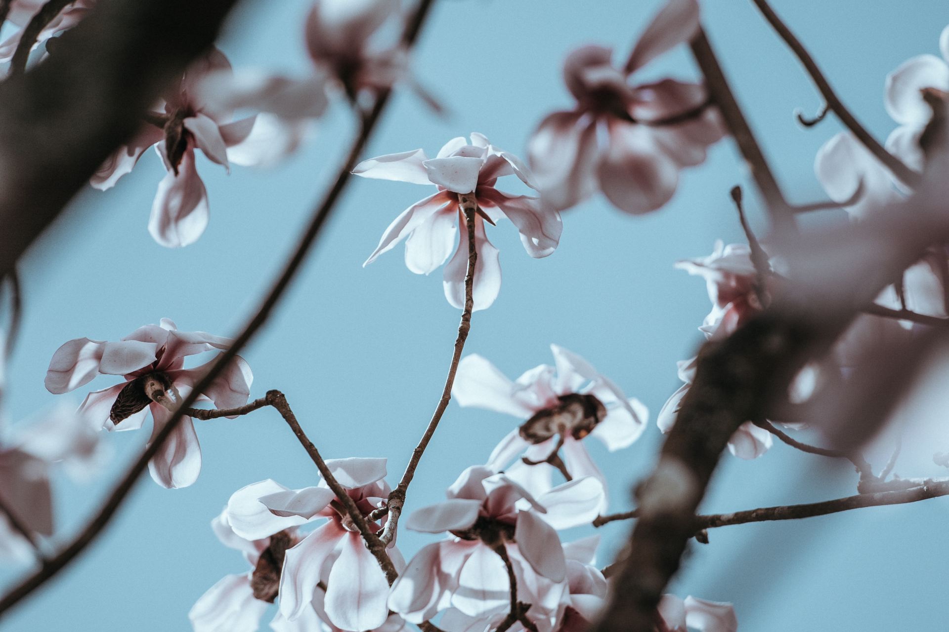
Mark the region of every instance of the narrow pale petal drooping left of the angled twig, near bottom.
[[348, 534], [336, 520], [330, 520], [287, 550], [280, 574], [280, 612], [289, 621], [296, 621], [310, 607], [326, 558]]

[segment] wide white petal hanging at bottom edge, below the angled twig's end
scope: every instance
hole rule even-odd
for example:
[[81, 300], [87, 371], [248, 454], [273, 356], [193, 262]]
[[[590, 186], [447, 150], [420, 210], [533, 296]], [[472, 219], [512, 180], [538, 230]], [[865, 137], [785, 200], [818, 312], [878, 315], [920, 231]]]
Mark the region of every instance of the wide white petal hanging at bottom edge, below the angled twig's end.
[[326, 580], [324, 608], [330, 623], [344, 630], [371, 630], [389, 616], [389, 583], [359, 533], [347, 533]]

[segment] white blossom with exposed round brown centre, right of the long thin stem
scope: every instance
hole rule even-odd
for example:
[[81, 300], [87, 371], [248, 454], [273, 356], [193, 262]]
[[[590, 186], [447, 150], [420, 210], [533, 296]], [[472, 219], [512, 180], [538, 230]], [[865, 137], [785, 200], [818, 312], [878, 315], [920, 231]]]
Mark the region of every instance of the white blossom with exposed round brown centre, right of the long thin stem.
[[[526, 420], [494, 448], [487, 466], [504, 469], [524, 453], [544, 461], [562, 446], [568, 472], [573, 477], [592, 476], [605, 486], [600, 472], [584, 447], [592, 435], [610, 451], [639, 439], [649, 411], [598, 373], [585, 359], [563, 347], [550, 345], [553, 367], [540, 365], [511, 381], [485, 358], [473, 353], [458, 363], [452, 394], [460, 406], [476, 406]], [[550, 488], [549, 465], [518, 461], [508, 469], [513, 479], [535, 494]]]

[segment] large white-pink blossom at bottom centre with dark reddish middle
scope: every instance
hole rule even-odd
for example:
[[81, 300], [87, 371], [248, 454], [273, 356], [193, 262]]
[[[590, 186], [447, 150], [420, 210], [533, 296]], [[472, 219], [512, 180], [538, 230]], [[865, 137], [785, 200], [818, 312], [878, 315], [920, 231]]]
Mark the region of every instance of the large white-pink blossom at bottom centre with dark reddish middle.
[[451, 536], [423, 547], [392, 586], [389, 608], [409, 623], [447, 611], [448, 621], [466, 627], [490, 624], [510, 610], [508, 570], [517, 580], [518, 599], [530, 603], [529, 616], [551, 629], [566, 608], [567, 558], [556, 529], [588, 523], [598, 513], [603, 487], [592, 478], [575, 479], [540, 497], [488, 467], [469, 467], [452, 484], [444, 502], [419, 509], [405, 527]]

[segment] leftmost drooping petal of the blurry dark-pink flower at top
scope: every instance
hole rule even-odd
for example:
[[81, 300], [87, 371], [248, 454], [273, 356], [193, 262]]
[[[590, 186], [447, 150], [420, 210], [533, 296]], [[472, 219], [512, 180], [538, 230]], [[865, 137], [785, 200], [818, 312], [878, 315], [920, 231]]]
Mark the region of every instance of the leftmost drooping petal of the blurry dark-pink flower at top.
[[576, 206], [597, 189], [596, 121], [582, 112], [554, 112], [528, 141], [541, 199], [557, 210]]

